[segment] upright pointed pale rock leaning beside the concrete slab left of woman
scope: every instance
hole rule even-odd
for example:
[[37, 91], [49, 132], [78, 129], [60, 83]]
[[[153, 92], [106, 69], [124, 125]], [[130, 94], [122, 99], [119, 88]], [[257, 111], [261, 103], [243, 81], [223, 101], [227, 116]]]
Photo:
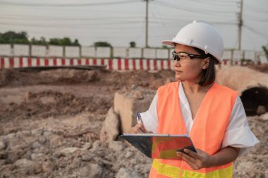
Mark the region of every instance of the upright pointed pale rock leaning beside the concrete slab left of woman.
[[99, 137], [101, 141], [114, 141], [119, 134], [119, 119], [118, 115], [111, 107], [106, 114], [106, 119], [103, 123]]

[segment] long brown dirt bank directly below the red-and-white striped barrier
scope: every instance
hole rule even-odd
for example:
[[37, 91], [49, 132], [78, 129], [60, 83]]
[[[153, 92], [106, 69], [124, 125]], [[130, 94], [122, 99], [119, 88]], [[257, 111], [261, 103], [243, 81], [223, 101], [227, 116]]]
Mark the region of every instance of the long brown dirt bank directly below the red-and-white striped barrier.
[[99, 83], [102, 85], [116, 85], [118, 88], [121, 88], [135, 83], [143, 87], [157, 89], [159, 85], [166, 83], [166, 80], [173, 80], [172, 71], [160, 71], [155, 73], [148, 73], [147, 71], [129, 71], [121, 73], [82, 69], [0, 70], [0, 86]]

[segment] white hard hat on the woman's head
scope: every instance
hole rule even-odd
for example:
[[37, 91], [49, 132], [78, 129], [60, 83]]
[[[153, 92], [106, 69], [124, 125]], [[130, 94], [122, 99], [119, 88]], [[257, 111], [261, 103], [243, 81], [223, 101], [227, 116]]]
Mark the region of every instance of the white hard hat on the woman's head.
[[212, 54], [219, 61], [219, 64], [221, 64], [221, 57], [224, 54], [224, 42], [221, 35], [212, 25], [204, 21], [193, 21], [193, 23], [183, 27], [172, 40], [165, 40], [162, 43], [173, 47], [174, 43], [197, 47], [205, 51], [206, 54]]

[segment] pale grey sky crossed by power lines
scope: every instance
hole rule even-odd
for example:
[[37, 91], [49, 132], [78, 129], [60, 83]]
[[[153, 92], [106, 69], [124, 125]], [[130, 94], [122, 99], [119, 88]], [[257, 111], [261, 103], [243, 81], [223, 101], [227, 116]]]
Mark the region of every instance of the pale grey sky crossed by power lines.
[[[150, 47], [162, 47], [184, 25], [214, 25], [226, 49], [238, 42], [241, 0], [149, 0]], [[268, 45], [268, 1], [243, 0], [241, 49]], [[145, 0], [0, 0], [0, 32], [26, 31], [31, 39], [70, 37], [80, 45], [109, 42], [113, 47], [145, 47]]]

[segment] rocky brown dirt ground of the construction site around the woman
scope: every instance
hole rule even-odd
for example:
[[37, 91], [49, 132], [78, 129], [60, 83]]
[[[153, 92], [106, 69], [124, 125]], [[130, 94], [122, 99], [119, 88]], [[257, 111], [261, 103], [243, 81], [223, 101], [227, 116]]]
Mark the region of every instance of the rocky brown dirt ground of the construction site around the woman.
[[[100, 141], [99, 132], [117, 90], [133, 85], [157, 90], [173, 76], [172, 71], [2, 69], [0, 177], [148, 177], [150, 158], [120, 138]], [[268, 113], [248, 121], [260, 143], [236, 160], [233, 176], [268, 177]]]

